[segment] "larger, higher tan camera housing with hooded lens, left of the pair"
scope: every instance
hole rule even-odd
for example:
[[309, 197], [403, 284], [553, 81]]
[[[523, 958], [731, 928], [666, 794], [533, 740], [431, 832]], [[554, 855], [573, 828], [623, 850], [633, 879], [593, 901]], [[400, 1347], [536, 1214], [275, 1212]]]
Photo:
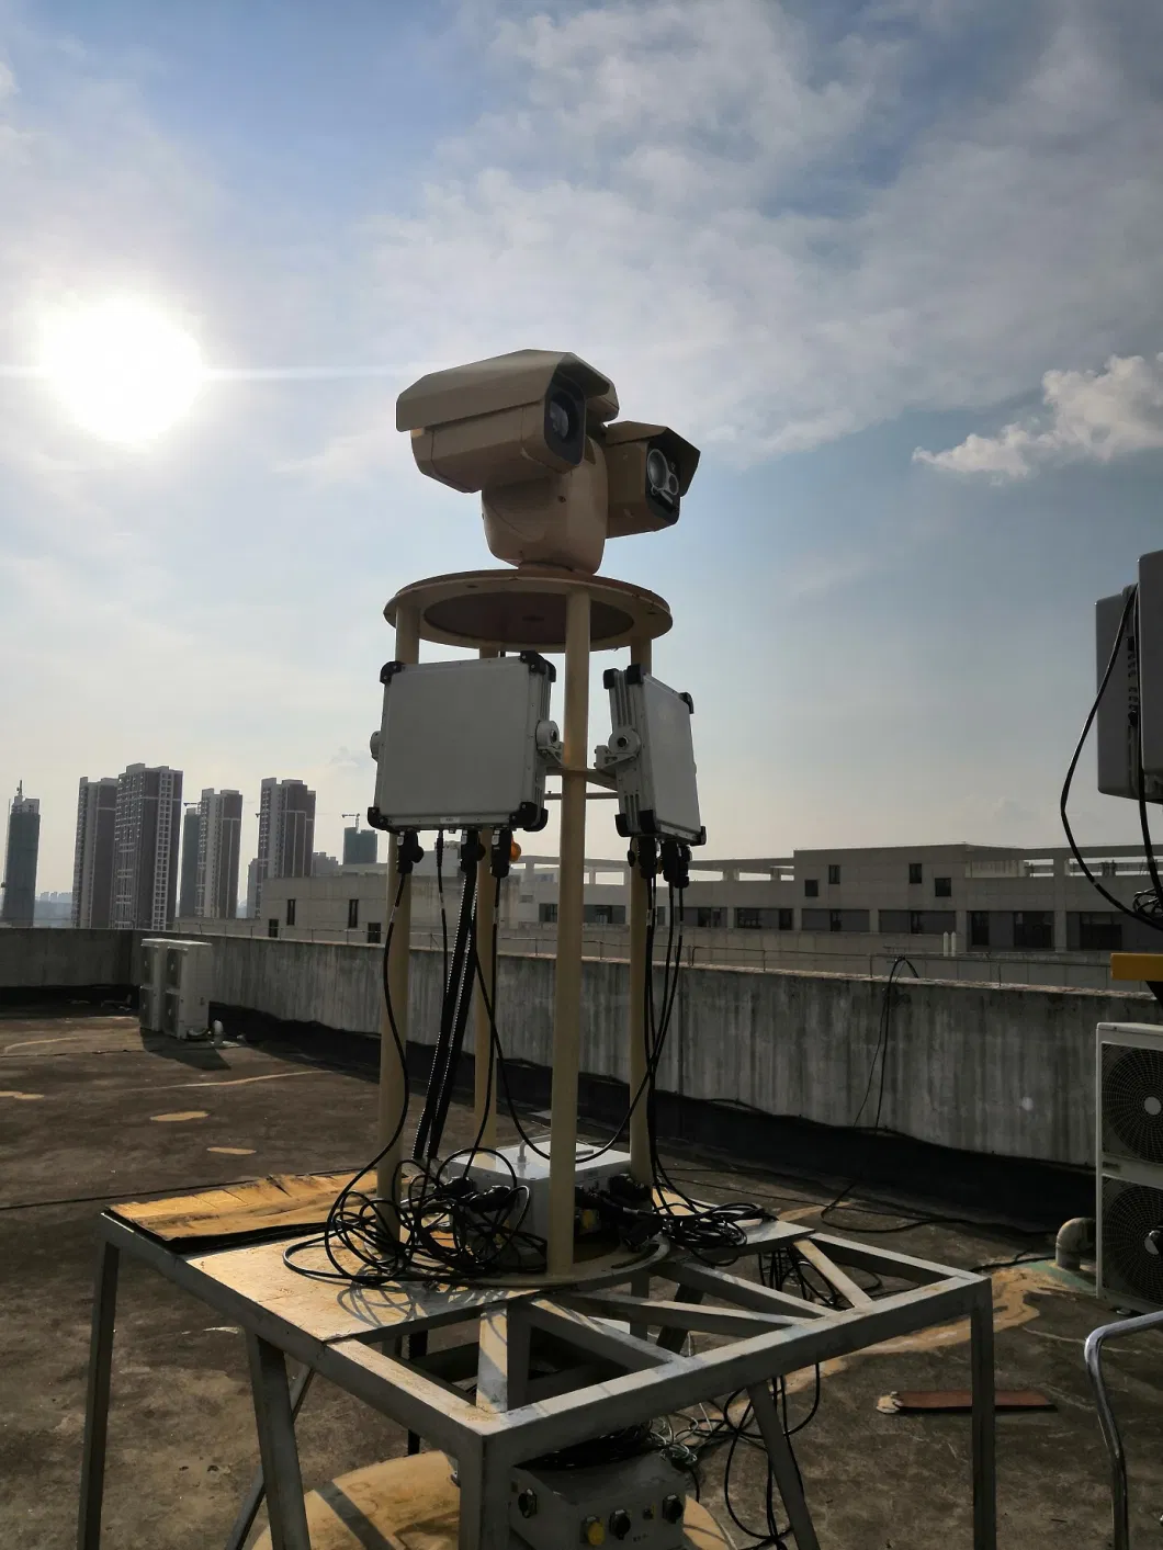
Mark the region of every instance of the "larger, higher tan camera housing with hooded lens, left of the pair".
[[397, 398], [395, 428], [411, 431], [420, 473], [470, 493], [577, 468], [588, 431], [616, 414], [614, 384], [577, 355], [513, 350], [422, 377]]

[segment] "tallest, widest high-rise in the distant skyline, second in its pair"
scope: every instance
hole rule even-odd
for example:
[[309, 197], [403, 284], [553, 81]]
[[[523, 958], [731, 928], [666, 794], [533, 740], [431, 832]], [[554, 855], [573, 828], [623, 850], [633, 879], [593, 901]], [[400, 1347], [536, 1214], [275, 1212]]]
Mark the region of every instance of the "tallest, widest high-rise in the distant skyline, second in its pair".
[[181, 770], [130, 764], [118, 775], [112, 925], [141, 932], [174, 925], [180, 826]]

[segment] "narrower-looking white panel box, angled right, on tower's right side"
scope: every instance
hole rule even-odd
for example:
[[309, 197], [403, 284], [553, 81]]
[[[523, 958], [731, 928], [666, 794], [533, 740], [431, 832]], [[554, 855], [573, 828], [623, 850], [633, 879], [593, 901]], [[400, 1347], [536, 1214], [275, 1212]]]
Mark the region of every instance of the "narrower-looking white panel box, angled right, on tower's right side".
[[600, 770], [617, 780], [617, 832], [702, 845], [690, 718], [695, 704], [631, 663], [608, 668], [609, 742], [594, 750]]

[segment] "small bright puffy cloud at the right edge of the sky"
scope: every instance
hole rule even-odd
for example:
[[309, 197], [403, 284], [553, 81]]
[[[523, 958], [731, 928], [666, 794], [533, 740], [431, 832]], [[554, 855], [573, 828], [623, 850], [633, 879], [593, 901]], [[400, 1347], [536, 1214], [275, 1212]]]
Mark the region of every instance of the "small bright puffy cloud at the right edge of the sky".
[[913, 462], [957, 474], [1025, 479], [1053, 463], [1109, 463], [1163, 448], [1163, 353], [1112, 355], [1101, 372], [1047, 372], [1040, 418], [1016, 420], [997, 436], [968, 436], [943, 453], [916, 448]]

